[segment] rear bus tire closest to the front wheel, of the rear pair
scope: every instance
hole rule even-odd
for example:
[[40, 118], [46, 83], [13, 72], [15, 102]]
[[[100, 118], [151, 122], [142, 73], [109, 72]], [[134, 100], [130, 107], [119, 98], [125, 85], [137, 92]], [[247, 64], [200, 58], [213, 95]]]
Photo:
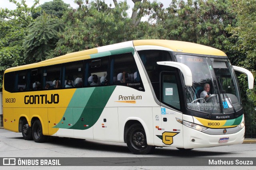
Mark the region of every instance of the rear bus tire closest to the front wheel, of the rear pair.
[[36, 143], [43, 143], [46, 141], [47, 136], [43, 135], [43, 129], [40, 120], [34, 121], [32, 126], [32, 136]]

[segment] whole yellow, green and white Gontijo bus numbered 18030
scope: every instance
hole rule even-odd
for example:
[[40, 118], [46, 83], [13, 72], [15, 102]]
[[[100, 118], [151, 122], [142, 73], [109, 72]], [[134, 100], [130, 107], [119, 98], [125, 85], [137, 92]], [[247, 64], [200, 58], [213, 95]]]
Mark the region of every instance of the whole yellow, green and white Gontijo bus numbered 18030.
[[[9, 68], [4, 128], [48, 136], [193, 149], [242, 143], [244, 115], [234, 70], [220, 50], [194, 43], [136, 40]], [[208, 98], [201, 92], [208, 89]]]

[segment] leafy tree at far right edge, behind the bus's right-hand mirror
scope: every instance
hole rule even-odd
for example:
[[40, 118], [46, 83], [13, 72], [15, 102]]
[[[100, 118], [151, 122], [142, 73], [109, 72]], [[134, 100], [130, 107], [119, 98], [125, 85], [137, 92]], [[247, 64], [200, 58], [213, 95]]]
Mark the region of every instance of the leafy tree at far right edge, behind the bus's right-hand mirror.
[[[227, 28], [232, 37], [237, 39], [230, 48], [242, 54], [237, 64], [249, 69], [256, 78], [256, 0], [234, 0], [231, 10], [237, 13], [238, 22]], [[242, 74], [238, 78], [244, 84], [242, 87], [244, 94], [247, 91], [248, 99], [256, 106], [256, 86], [254, 85], [253, 90], [247, 90], [246, 76]]]

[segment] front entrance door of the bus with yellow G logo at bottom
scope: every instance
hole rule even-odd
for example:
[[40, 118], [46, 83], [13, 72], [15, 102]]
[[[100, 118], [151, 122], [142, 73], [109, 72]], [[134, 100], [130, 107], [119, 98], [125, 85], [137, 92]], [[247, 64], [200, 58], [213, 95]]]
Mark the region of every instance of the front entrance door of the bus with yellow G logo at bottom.
[[163, 146], [183, 147], [182, 124], [176, 120], [176, 118], [182, 119], [178, 80], [176, 71], [161, 72], [160, 101]]

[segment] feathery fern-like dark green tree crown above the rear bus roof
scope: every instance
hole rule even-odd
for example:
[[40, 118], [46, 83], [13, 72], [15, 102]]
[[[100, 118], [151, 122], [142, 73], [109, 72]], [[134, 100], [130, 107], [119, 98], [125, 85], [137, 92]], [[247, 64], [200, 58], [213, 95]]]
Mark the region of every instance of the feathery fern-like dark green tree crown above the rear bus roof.
[[44, 12], [36, 18], [22, 46], [27, 63], [45, 60], [58, 42], [58, 33], [63, 30], [64, 24], [57, 17], [52, 18]]

